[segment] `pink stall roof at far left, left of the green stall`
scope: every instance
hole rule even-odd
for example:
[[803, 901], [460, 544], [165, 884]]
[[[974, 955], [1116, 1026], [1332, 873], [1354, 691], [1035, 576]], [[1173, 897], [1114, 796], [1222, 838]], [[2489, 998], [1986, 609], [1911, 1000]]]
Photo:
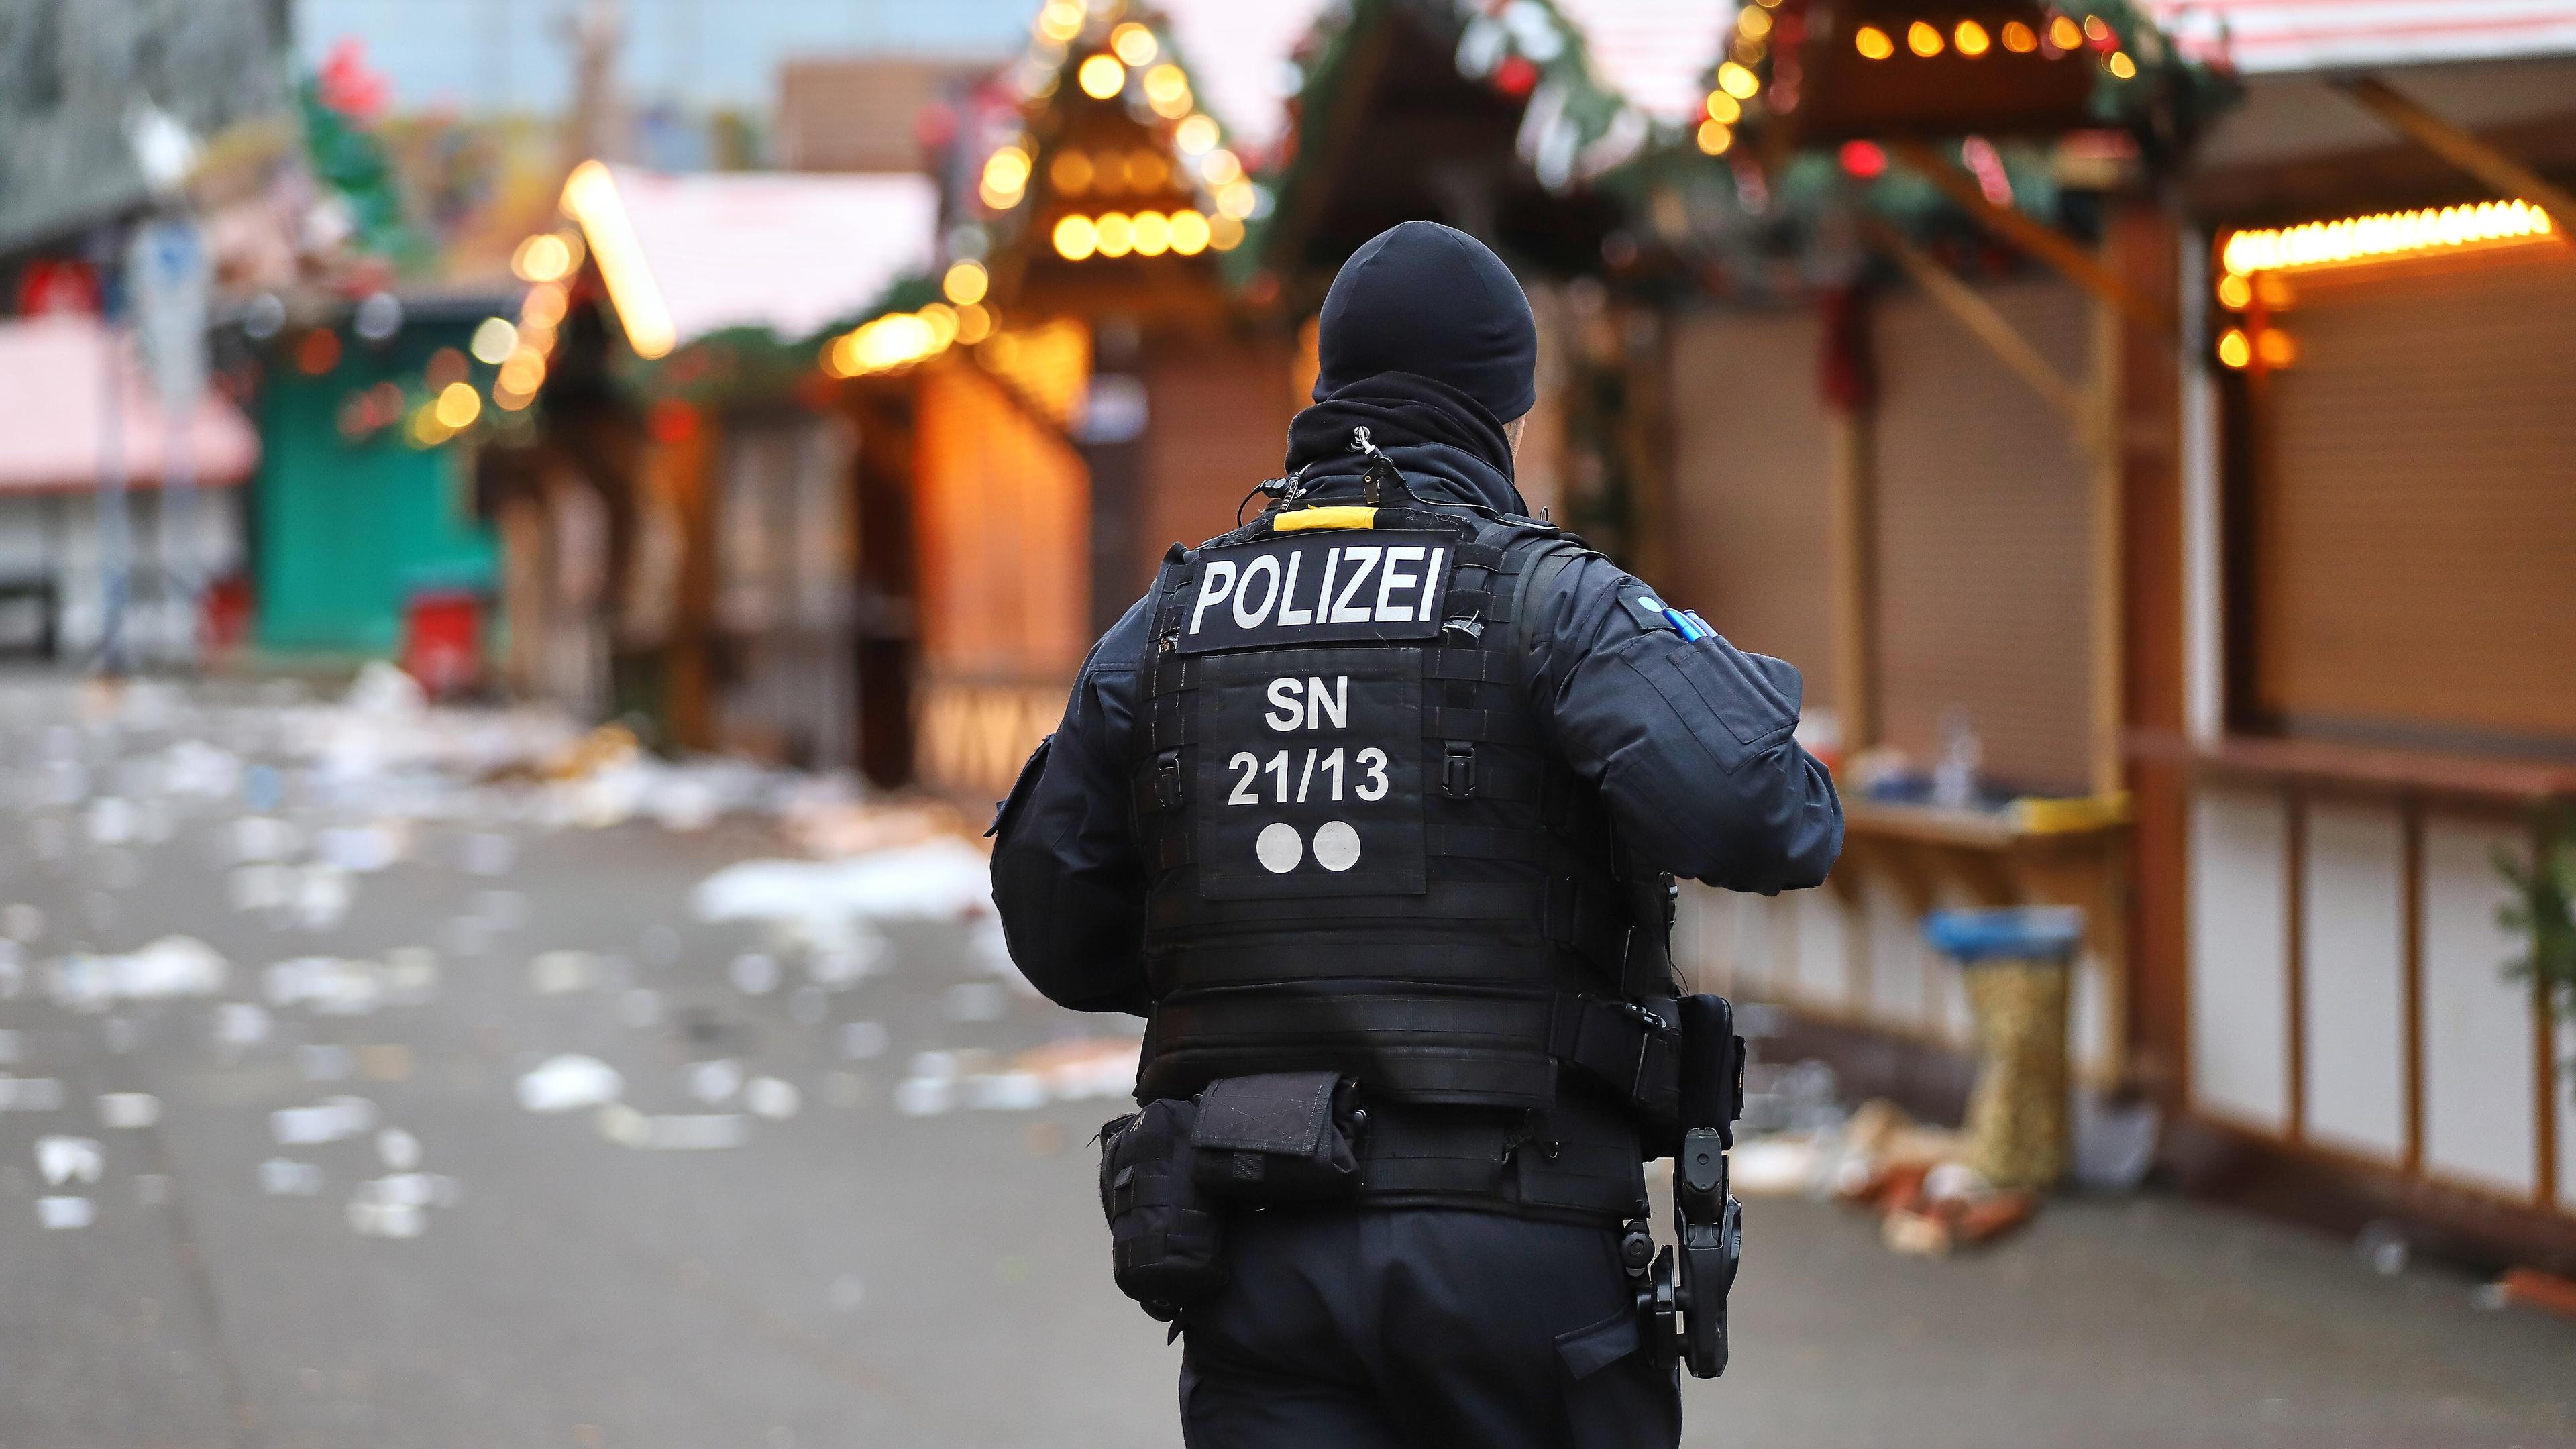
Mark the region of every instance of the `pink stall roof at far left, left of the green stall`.
[[[0, 322], [0, 492], [98, 482], [111, 353], [124, 389], [126, 477], [162, 480], [173, 428], [131, 340], [98, 317], [18, 317]], [[240, 482], [260, 462], [250, 420], [216, 392], [198, 400], [180, 436], [204, 485]]]

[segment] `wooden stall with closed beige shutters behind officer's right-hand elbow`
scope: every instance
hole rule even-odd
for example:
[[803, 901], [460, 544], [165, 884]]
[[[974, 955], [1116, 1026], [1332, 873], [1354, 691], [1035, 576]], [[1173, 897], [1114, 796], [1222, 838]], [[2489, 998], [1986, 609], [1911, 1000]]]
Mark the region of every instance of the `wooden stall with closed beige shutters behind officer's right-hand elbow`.
[[1955, 1052], [1922, 915], [2079, 905], [2076, 1065], [2136, 1078], [2120, 539], [2174, 345], [2138, 217], [2215, 98], [2125, 5], [1783, 0], [1739, 13], [1698, 155], [1641, 168], [1698, 219], [1649, 258], [1700, 294], [1659, 583], [1806, 670], [1847, 802], [1829, 892], [1687, 897], [1713, 982]]

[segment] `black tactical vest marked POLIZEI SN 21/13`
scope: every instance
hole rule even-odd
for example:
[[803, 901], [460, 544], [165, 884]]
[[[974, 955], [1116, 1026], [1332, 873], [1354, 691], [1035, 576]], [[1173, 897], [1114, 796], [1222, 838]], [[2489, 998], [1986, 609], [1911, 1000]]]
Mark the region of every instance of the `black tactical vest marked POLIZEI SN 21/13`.
[[1139, 1101], [1340, 1070], [1373, 1101], [1533, 1114], [1579, 1075], [1587, 1114], [1659, 1132], [1672, 1039], [1638, 1003], [1674, 993], [1669, 879], [1620, 877], [1600, 794], [1522, 699], [1520, 603], [1579, 549], [1288, 508], [1170, 552], [1133, 735]]

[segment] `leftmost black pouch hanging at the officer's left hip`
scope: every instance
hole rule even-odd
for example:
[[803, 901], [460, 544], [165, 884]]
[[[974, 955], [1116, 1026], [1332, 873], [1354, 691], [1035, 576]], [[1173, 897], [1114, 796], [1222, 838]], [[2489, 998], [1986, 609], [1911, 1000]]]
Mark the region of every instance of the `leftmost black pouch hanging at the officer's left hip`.
[[1100, 1127], [1100, 1212], [1118, 1292], [1164, 1323], [1226, 1284], [1218, 1217], [1190, 1178], [1195, 1101], [1149, 1101]]

